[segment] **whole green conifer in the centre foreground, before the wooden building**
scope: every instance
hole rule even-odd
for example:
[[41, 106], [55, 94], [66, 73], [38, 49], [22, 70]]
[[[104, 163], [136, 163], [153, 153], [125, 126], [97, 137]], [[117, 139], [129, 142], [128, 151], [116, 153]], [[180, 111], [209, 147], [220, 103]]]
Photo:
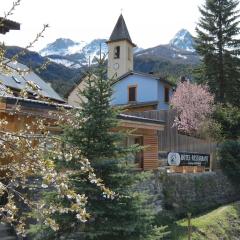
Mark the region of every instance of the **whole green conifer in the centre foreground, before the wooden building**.
[[[138, 146], [126, 147], [122, 143], [124, 133], [113, 131], [118, 128], [118, 110], [111, 106], [113, 80], [106, 79], [104, 60], [99, 67], [87, 73], [86, 88], [81, 92], [81, 107], [74, 111], [78, 128], [65, 129], [65, 141], [77, 146], [95, 169], [97, 177], [117, 193], [114, 199], [104, 196], [86, 176], [73, 175], [75, 191], [88, 196], [87, 210], [91, 214], [84, 225], [77, 223], [71, 215], [57, 217], [60, 224], [58, 235], [49, 239], [84, 240], [157, 240], [161, 239], [164, 227], [155, 226], [155, 213], [149, 196], [137, 191], [139, 181], [149, 173], [136, 172], [130, 159], [139, 150]], [[79, 168], [69, 163], [71, 167]], [[44, 239], [48, 239], [43, 234]]]

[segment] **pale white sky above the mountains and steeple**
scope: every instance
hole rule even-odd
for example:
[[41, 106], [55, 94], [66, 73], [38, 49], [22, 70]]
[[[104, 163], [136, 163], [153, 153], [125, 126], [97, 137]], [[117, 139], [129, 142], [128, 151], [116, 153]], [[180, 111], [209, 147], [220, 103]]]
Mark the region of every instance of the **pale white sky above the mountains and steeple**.
[[[204, 0], [22, 0], [11, 16], [21, 23], [21, 31], [0, 36], [0, 41], [24, 47], [45, 23], [50, 28], [33, 50], [59, 37], [75, 41], [108, 38], [122, 9], [133, 42], [148, 48], [167, 43], [181, 28], [194, 35], [200, 17], [198, 6], [203, 3]], [[0, 16], [11, 5], [11, 0], [1, 0]]]

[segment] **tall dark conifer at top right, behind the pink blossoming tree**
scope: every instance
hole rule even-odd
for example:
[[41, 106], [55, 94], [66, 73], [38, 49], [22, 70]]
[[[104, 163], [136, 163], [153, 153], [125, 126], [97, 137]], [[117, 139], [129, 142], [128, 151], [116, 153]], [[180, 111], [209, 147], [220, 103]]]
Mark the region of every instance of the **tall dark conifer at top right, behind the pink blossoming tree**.
[[240, 104], [239, 1], [206, 0], [199, 8], [196, 50], [202, 56], [201, 82], [207, 83], [216, 100]]

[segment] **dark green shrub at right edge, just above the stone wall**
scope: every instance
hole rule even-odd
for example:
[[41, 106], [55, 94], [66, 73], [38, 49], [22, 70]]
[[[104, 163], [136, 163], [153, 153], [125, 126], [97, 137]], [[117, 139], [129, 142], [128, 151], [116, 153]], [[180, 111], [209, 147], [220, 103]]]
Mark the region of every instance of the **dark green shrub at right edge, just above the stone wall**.
[[240, 182], [240, 140], [227, 140], [220, 145], [220, 165], [234, 182]]

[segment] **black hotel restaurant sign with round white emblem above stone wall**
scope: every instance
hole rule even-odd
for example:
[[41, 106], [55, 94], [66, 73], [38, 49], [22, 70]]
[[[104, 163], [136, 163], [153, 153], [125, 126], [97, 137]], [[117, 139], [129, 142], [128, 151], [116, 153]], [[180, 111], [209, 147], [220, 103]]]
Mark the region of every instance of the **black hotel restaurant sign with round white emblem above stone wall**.
[[169, 152], [167, 161], [170, 166], [210, 167], [210, 154]]

